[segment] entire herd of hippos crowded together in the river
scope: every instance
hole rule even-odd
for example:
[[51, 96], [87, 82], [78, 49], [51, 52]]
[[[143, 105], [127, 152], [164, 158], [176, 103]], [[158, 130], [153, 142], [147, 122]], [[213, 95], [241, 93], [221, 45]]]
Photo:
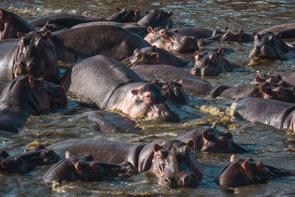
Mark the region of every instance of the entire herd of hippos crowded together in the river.
[[[144, 134], [134, 127], [132, 118], [137, 117], [180, 121], [170, 101], [189, 105], [185, 92], [242, 99], [235, 107], [237, 116], [295, 131], [295, 105], [289, 103], [295, 102], [295, 73], [268, 73], [236, 87], [215, 87], [197, 77], [231, 72], [236, 67], [222, 56], [231, 49], [199, 52], [199, 46], [215, 41], [254, 42], [249, 58], [277, 59], [295, 49], [294, 43], [281, 40], [295, 38], [295, 23], [249, 35], [228, 27], [214, 32], [199, 27], [170, 29], [172, 10], [146, 11], [144, 17], [139, 10], [115, 10], [107, 18], [61, 13], [27, 23], [1, 9], [0, 78], [10, 81], [0, 84], [1, 132], [17, 133], [18, 123], [24, 123], [30, 115], [65, 106], [65, 92], [102, 110], [119, 110], [122, 114], [111, 116], [101, 114], [109, 113], [106, 111], [84, 113], [106, 133]], [[188, 62], [171, 52], [194, 53], [194, 68], [190, 72], [178, 68]], [[73, 63], [61, 79], [57, 61]], [[159, 177], [160, 185], [196, 187], [205, 171], [194, 150], [251, 151], [235, 143], [230, 132], [218, 131], [213, 123], [212, 128], [150, 143], [73, 139], [26, 149], [19, 156], [1, 150], [0, 169], [22, 174], [38, 165], [54, 164], [43, 180], [58, 183], [124, 178], [151, 171]], [[237, 187], [287, 175], [292, 173], [233, 154], [214, 180], [222, 187]]]

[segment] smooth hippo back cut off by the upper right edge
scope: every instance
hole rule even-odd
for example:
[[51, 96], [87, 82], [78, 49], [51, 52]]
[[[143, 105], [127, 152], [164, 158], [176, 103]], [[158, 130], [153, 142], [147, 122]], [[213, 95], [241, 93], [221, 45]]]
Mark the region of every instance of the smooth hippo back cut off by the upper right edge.
[[273, 32], [274, 34], [280, 34], [280, 38], [295, 38], [295, 23], [286, 23], [281, 25], [275, 25], [261, 30], [259, 33]]

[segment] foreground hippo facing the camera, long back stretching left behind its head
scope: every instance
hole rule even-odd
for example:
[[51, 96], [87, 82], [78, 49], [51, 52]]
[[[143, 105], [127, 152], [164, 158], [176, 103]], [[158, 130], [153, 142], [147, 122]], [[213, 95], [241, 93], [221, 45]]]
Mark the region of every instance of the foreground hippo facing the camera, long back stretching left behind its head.
[[159, 177], [158, 184], [167, 187], [196, 187], [205, 175], [203, 167], [191, 150], [194, 140], [186, 143], [176, 139], [161, 139], [150, 143], [102, 142], [69, 140], [48, 146], [64, 154], [91, 154], [95, 161], [119, 164], [128, 161], [139, 172], [151, 171]]

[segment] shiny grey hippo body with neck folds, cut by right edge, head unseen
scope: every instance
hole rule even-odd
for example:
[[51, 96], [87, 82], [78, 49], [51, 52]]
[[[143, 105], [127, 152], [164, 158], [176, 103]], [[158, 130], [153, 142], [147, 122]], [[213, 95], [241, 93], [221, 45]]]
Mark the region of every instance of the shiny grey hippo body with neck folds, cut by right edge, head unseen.
[[247, 121], [258, 121], [295, 132], [295, 105], [263, 98], [246, 98], [237, 103], [235, 114]]

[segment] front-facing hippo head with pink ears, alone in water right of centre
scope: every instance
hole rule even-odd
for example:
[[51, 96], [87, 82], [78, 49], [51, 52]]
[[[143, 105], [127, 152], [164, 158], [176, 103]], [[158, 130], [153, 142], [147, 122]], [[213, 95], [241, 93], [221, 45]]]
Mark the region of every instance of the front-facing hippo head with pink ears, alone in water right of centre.
[[220, 48], [218, 52], [205, 51], [199, 53], [195, 51], [195, 66], [191, 69], [190, 73], [197, 76], [214, 76], [218, 73], [218, 67], [224, 64], [220, 56], [223, 49]]

